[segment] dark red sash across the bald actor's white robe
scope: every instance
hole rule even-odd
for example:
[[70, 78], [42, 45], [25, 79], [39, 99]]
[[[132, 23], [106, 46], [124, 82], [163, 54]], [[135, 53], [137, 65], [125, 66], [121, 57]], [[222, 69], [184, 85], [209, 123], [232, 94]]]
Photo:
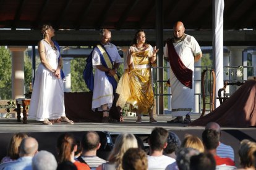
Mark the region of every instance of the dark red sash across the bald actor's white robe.
[[166, 41], [168, 48], [168, 59], [176, 78], [186, 87], [192, 89], [193, 71], [187, 68], [177, 54], [171, 39]]

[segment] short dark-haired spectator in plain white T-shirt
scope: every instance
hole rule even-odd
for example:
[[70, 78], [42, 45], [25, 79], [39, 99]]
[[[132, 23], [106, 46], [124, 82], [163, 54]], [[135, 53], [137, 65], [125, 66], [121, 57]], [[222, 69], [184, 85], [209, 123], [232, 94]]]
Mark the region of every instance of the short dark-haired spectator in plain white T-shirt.
[[168, 131], [162, 127], [155, 127], [148, 139], [150, 146], [150, 156], [148, 156], [148, 170], [166, 169], [171, 164], [170, 169], [176, 168], [176, 160], [163, 155], [163, 150], [167, 146]]

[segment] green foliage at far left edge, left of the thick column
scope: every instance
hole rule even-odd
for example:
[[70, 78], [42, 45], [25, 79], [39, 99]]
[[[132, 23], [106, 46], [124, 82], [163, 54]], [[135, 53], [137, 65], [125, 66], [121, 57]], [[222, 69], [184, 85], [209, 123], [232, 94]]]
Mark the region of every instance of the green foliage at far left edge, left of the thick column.
[[12, 64], [11, 53], [4, 46], [0, 46], [0, 99], [12, 97]]

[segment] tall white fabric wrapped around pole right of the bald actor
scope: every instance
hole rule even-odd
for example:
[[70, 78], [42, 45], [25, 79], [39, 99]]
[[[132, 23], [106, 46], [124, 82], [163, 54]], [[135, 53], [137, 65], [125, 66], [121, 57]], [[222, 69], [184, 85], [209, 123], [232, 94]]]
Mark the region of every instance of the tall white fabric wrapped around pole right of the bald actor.
[[220, 102], [216, 100], [218, 90], [223, 87], [223, 12], [224, 0], [213, 1], [213, 67], [216, 73], [216, 108]]

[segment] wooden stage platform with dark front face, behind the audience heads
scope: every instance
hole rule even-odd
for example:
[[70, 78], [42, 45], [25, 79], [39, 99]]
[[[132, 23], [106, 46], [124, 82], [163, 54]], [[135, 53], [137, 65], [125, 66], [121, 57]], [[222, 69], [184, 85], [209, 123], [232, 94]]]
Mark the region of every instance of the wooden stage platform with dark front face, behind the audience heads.
[[[198, 115], [192, 115], [192, 120], [197, 119]], [[28, 136], [35, 137], [39, 142], [40, 150], [48, 150], [56, 154], [56, 139], [62, 132], [71, 132], [78, 139], [80, 139], [85, 131], [101, 131], [109, 134], [114, 141], [116, 136], [122, 132], [130, 132], [137, 134], [147, 146], [147, 137], [154, 127], [164, 127], [169, 131], [173, 131], [182, 140], [185, 134], [194, 134], [201, 138], [204, 127], [191, 127], [186, 124], [168, 124], [166, 121], [172, 119], [170, 115], [159, 115], [156, 119], [157, 124], [148, 122], [149, 117], [142, 118], [142, 124], [136, 124], [136, 117], [126, 117], [121, 123], [55, 123], [51, 126], [43, 125], [41, 122], [28, 119], [27, 124], [17, 123], [17, 119], [1, 118], [0, 119], [0, 159], [6, 155], [7, 145], [15, 132], [25, 132]], [[239, 149], [239, 142], [242, 139], [250, 139], [256, 141], [256, 128], [237, 128], [237, 127], [223, 127], [221, 142], [231, 145], [236, 154], [236, 164], [239, 164], [237, 155]], [[101, 150], [101, 156], [106, 158], [109, 150]]]

